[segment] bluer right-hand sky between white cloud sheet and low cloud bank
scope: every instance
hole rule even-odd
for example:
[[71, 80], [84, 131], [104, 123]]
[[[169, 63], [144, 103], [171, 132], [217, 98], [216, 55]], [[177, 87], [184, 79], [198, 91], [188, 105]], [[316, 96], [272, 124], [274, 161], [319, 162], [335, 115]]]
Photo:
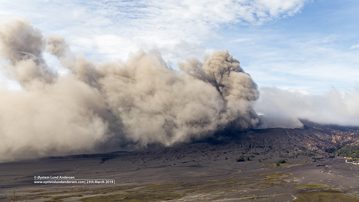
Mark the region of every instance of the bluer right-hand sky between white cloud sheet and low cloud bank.
[[[350, 48], [359, 43], [356, 10], [354, 1], [309, 2], [293, 17], [245, 28], [247, 36], [256, 37], [248, 37], [247, 43], [227, 43], [226, 48], [241, 55], [242, 66], [253, 70], [260, 86], [312, 93], [331, 87], [352, 90], [358, 82], [359, 64], [358, 49]], [[237, 45], [243, 49], [236, 49]]]

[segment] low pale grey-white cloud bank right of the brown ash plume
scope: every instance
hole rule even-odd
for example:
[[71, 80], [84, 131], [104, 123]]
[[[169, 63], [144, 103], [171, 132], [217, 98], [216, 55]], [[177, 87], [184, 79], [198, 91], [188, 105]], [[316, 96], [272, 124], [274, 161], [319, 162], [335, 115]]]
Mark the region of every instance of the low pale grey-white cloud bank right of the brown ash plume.
[[354, 92], [331, 89], [323, 95], [278, 88], [261, 88], [254, 109], [265, 115], [259, 128], [301, 128], [299, 119], [321, 124], [359, 126], [359, 88]]

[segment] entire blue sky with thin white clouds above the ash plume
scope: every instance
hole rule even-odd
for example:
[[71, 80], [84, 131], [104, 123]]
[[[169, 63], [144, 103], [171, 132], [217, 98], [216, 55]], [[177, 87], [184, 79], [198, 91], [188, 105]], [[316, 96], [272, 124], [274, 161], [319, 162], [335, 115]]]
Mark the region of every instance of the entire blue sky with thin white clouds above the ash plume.
[[1, 0], [0, 7], [1, 19], [25, 17], [93, 60], [126, 60], [130, 51], [159, 49], [176, 67], [177, 61], [227, 49], [259, 87], [320, 94], [358, 85], [355, 0]]

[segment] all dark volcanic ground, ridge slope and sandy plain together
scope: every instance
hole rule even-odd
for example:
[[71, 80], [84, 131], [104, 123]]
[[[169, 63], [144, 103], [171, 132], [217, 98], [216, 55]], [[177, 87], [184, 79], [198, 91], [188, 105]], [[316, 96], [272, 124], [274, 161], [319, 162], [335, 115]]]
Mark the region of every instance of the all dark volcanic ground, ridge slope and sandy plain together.
[[[223, 132], [173, 147], [1, 163], [0, 200], [15, 190], [29, 202], [359, 201], [359, 165], [326, 152], [358, 141], [359, 131], [302, 122], [303, 129]], [[115, 184], [35, 184], [34, 176]]]

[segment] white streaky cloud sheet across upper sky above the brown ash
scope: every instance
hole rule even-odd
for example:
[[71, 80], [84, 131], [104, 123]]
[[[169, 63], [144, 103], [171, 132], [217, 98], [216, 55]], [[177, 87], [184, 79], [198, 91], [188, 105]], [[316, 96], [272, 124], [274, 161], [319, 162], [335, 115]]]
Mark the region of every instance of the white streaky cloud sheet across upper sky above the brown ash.
[[[0, 7], [7, 12], [0, 14], [0, 18], [23, 15], [45, 34], [59, 34], [71, 40], [71, 48], [75, 52], [91, 55], [101, 50], [102, 59], [115, 59], [113, 57], [120, 55], [122, 59], [126, 59], [130, 49], [135, 51], [146, 47], [161, 51], [183, 42], [202, 44], [211, 38], [220, 37], [217, 31], [222, 26], [258, 26], [292, 16], [300, 12], [306, 2], [307, 0], [3, 0], [0, 1]], [[114, 40], [113, 46], [109, 47], [111, 39], [104, 38], [114, 35], [121, 40]], [[108, 42], [101, 43], [99, 38]], [[125, 43], [119, 45], [120, 41]], [[176, 50], [171, 52], [174, 51]], [[189, 52], [190, 55], [185, 58], [200, 57], [205, 52], [208, 52], [206, 48], [200, 52]], [[165, 58], [171, 55], [163, 54]]]

